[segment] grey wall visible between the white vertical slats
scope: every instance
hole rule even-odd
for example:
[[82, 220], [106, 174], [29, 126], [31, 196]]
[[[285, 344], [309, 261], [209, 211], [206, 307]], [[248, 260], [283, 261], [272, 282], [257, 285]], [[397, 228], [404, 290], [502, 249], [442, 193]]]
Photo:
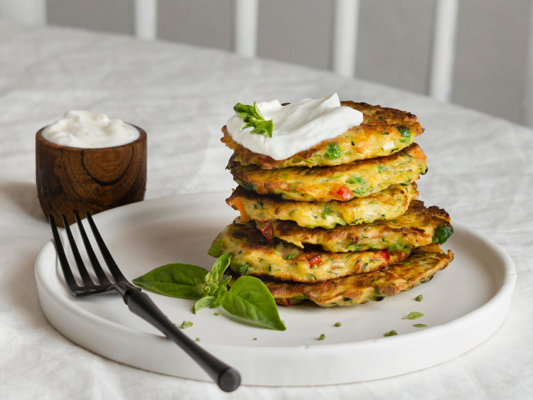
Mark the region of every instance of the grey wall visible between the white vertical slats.
[[[532, 0], [461, 0], [452, 102], [519, 124]], [[158, 38], [232, 50], [233, 0], [158, 0]], [[361, 0], [356, 77], [427, 94], [435, 0]], [[133, 34], [133, 0], [48, 0], [48, 23]], [[333, 0], [260, 0], [258, 55], [329, 70]]]

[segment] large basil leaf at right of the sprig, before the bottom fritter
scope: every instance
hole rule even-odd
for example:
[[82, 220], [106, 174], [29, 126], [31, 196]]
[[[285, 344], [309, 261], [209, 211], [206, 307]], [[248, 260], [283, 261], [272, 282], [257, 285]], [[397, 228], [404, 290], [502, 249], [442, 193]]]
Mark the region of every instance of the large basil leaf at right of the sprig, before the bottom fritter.
[[240, 276], [222, 302], [231, 315], [275, 330], [286, 330], [276, 301], [265, 284], [254, 276]]

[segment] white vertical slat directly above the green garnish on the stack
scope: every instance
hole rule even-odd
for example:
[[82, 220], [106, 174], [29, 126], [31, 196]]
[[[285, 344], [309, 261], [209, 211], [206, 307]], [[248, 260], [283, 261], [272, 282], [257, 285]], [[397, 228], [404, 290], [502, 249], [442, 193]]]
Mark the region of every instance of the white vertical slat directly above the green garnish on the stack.
[[257, 55], [259, 0], [235, 0], [235, 52], [243, 57]]

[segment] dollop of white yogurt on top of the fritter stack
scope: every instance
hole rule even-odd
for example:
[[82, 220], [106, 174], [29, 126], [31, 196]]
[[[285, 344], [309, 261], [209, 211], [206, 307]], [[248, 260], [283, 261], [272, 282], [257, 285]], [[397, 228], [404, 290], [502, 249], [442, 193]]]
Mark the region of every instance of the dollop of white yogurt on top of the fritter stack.
[[227, 121], [227, 133], [238, 144], [254, 153], [284, 160], [307, 150], [321, 141], [333, 139], [362, 122], [362, 112], [340, 105], [337, 95], [323, 99], [301, 99], [282, 106], [278, 100], [257, 103], [265, 121], [272, 120], [272, 137], [252, 134], [253, 127], [242, 129], [246, 123], [239, 114]]

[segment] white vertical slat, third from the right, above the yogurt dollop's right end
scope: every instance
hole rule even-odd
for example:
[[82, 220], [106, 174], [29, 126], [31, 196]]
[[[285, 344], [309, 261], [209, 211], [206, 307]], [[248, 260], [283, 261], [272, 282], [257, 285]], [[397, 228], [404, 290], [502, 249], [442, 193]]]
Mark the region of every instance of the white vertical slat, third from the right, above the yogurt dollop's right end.
[[344, 77], [355, 76], [359, 0], [335, 0], [333, 16], [333, 71]]

